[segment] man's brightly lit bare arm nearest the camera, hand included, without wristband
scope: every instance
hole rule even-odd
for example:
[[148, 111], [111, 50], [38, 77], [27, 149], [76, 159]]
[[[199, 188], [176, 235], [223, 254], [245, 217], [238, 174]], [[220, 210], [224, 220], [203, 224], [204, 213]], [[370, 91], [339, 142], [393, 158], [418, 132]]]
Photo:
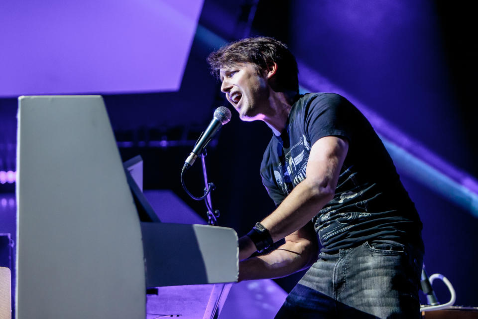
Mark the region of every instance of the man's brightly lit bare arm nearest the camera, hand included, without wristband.
[[[304, 227], [334, 198], [348, 149], [349, 143], [346, 140], [333, 136], [321, 138], [312, 145], [307, 162], [307, 177], [261, 221], [274, 242]], [[255, 251], [254, 243], [249, 237], [239, 238], [239, 260], [249, 257]]]

